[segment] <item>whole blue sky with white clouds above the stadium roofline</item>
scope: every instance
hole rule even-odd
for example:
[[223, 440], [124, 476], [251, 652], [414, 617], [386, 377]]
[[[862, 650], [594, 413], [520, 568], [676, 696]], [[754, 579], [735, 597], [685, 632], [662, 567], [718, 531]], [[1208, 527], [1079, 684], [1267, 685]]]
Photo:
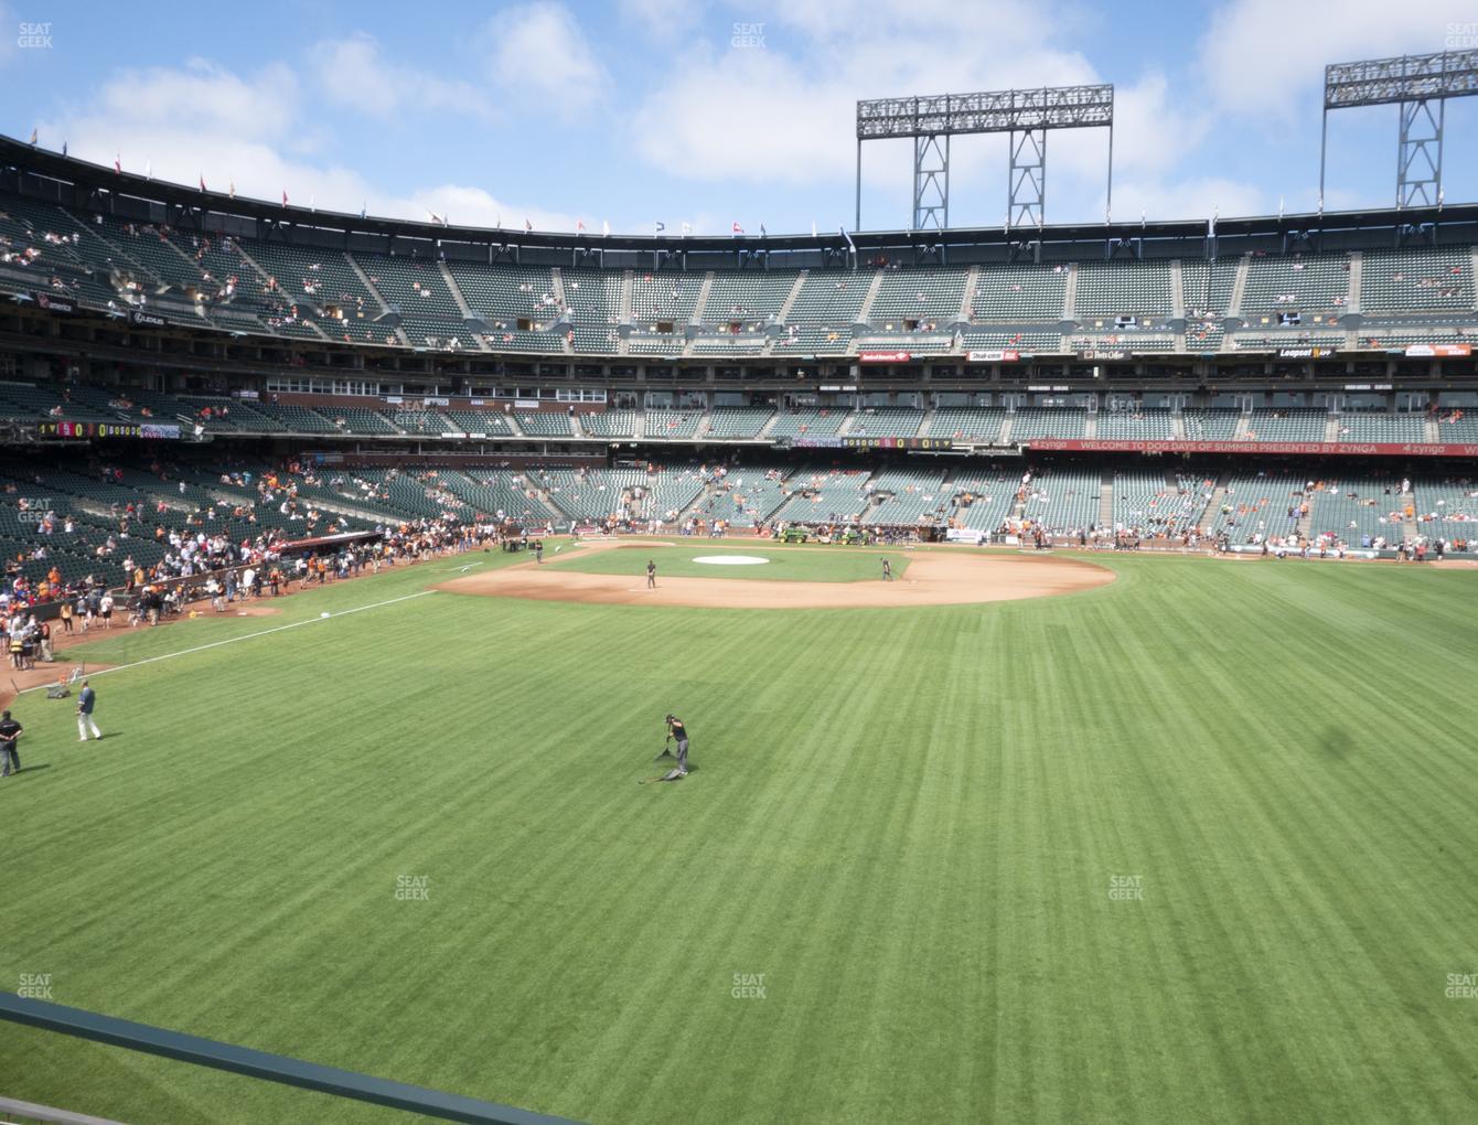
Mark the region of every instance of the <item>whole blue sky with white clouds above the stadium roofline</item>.
[[[1088, 81], [1116, 86], [1114, 219], [1312, 210], [1323, 65], [1475, 47], [1478, 0], [0, 0], [0, 130], [158, 179], [469, 225], [783, 234], [851, 226], [859, 98]], [[1329, 210], [1391, 204], [1395, 120], [1332, 115]], [[1450, 203], [1478, 200], [1475, 137], [1478, 99], [1451, 103]], [[1106, 148], [1049, 137], [1048, 222], [1103, 217]], [[952, 225], [1004, 222], [1002, 137], [958, 139], [952, 176]], [[868, 145], [863, 228], [906, 226], [909, 200], [907, 142]]]

